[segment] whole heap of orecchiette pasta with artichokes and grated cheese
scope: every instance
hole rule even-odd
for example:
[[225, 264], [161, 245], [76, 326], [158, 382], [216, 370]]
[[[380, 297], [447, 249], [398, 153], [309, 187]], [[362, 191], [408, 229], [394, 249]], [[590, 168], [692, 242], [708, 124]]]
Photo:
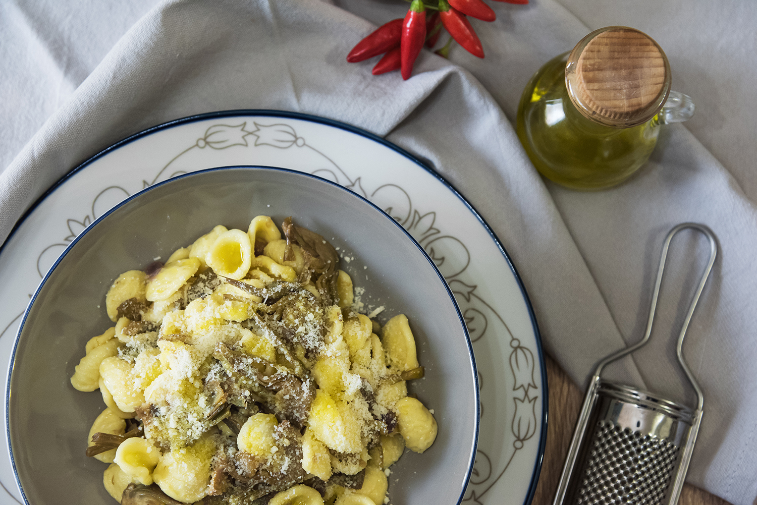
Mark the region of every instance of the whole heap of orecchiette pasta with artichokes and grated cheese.
[[219, 225], [111, 285], [115, 326], [71, 383], [107, 405], [87, 454], [113, 462], [116, 500], [154, 484], [166, 503], [383, 505], [406, 444], [433, 443], [434, 417], [407, 396], [423, 375], [407, 317], [360, 313], [335, 248], [282, 228]]

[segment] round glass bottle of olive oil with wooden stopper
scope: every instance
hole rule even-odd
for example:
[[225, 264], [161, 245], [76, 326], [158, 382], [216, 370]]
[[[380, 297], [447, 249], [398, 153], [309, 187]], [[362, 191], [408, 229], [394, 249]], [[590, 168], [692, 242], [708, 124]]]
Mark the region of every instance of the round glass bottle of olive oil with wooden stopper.
[[534, 74], [516, 129], [547, 179], [593, 190], [628, 179], [652, 154], [659, 126], [692, 114], [690, 98], [670, 91], [659, 45], [637, 30], [610, 26]]

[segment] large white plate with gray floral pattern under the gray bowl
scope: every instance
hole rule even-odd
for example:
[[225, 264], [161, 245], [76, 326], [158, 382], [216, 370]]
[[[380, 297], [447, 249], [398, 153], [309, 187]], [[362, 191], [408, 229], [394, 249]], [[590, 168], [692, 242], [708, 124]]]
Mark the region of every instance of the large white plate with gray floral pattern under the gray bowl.
[[[204, 114], [138, 133], [86, 161], [40, 198], [0, 251], [0, 360], [9, 359], [42, 277], [97, 217], [171, 176], [245, 164], [332, 179], [382, 207], [425, 248], [466, 317], [478, 366], [481, 427], [463, 503], [530, 503], [547, 436], [547, 377], [525, 288], [497, 237], [447, 182], [343, 123], [278, 111]], [[22, 503], [7, 452], [0, 484], [0, 505]]]

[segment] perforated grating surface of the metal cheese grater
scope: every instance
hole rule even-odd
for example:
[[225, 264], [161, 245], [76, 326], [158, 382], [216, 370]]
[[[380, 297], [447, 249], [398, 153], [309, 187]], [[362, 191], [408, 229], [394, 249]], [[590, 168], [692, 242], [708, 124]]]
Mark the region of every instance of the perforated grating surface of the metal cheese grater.
[[663, 503], [678, 452], [679, 447], [670, 442], [612, 422], [597, 422], [574, 503]]

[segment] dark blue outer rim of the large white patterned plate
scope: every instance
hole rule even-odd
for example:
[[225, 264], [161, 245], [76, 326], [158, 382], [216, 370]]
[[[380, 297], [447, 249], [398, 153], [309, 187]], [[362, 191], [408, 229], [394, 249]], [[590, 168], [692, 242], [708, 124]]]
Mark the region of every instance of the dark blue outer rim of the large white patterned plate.
[[[198, 121], [208, 120], [208, 119], [213, 119], [213, 118], [234, 117], [234, 116], [267, 116], [267, 117], [284, 117], [288, 119], [305, 120], [305, 121], [310, 121], [312, 123], [320, 123], [326, 126], [332, 126], [338, 129], [343, 129], [347, 132], [351, 132], [356, 135], [366, 137], [367, 139], [370, 139], [374, 142], [378, 142], [379, 144], [385, 145], [385, 147], [390, 148], [393, 151], [396, 151], [398, 154], [402, 155], [403, 157], [407, 157], [410, 161], [413, 161], [413, 163], [417, 164], [423, 170], [427, 171], [436, 179], [438, 179], [440, 182], [442, 182], [444, 185], [446, 185], [447, 188], [450, 189], [450, 191], [453, 192], [453, 194], [456, 195], [456, 197], [459, 198], [459, 200], [463, 202], [463, 204], [468, 208], [468, 210], [470, 210], [470, 212], [476, 217], [476, 219], [478, 219], [481, 225], [484, 226], [486, 231], [491, 236], [492, 240], [494, 240], [494, 243], [497, 245], [497, 248], [500, 250], [500, 253], [505, 258], [505, 261], [508, 264], [510, 270], [512, 271], [513, 276], [515, 276], [516, 282], [521, 291], [521, 295], [523, 297], [523, 300], [525, 301], [526, 309], [528, 310], [528, 316], [531, 319], [531, 326], [534, 329], [534, 337], [535, 337], [534, 340], [536, 341], [536, 349], [537, 349], [537, 354], [538, 354], [539, 363], [540, 363], [540, 377], [541, 377], [542, 387], [544, 388], [543, 389], [544, 392], [542, 393], [542, 401], [541, 401], [541, 407], [542, 407], [541, 418], [542, 419], [541, 419], [541, 430], [540, 430], [540, 435], [539, 435], [539, 438], [540, 438], [539, 448], [537, 450], [536, 461], [534, 462], [534, 471], [531, 474], [531, 483], [528, 486], [528, 493], [526, 494], [525, 500], [523, 501], [523, 505], [531, 505], [531, 501], [534, 499], [534, 494], [536, 493], [536, 485], [539, 480], [539, 475], [541, 472], [541, 465], [544, 460], [544, 448], [547, 445], [547, 420], [548, 420], [548, 410], [549, 410], [549, 406], [548, 406], [549, 388], [547, 384], [547, 364], [544, 360], [544, 350], [541, 344], [541, 333], [539, 331], [539, 326], [536, 320], [536, 314], [534, 313], [534, 307], [531, 305], [531, 298], [528, 297], [528, 292], [526, 292], [525, 290], [525, 285], [523, 285], [522, 278], [520, 274], [518, 273], [518, 270], [516, 269], [515, 265], [512, 263], [512, 260], [510, 259], [509, 254], [507, 254], [506, 249], [502, 245], [500, 238], [497, 237], [497, 234], [494, 233], [493, 229], [491, 229], [491, 226], [489, 226], [489, 223], [487, 223], [487, 221], [484, 220], [484, 217], [482, 217], [481, 214], [478, 213], [478, 210], [476, 210], [475, 207], [473, 207], [472, 204], [470, 204], [469, 201], [466, 200], [466, 198], [463, 198], [463, 195], [461, 195], [460, 192], [458, 192], [457, 189], [450, 182], [448, 182], [447, 179], [444, 179], [444, 177], [441, 176], [441, 174], [439, 174], [436, 170], [429, 167], [427, 164], [425, 164], [425, 162], [421, 161], [418, 157], [414, 156], [413, 154], [410, 154], [410, 152], [376, 135], [375, 133], [372, 133], [365, 129], [358, 128], [357, 126], [353, 126], [348, 123], [343, 123], [341, 121], [333, 120], [327, 117], [319, 117], [313, 114], [304, 114], [301, 112], [277, 111], [275, 109], [229, 109], [226, 111], [213, 111], [213, 112], [207, 112], [203, 114], [193, 114], [191, 116], [181, 117], [175, 120], [170, 120], [170, 121], [167, 121], [166, 123], [160, 123], [156, 126], [151, 126], [150, 128], [143, 129], [139, 132], [136, 132], [132, 134], [131, 136], [128, 136], [125, 139], [121, 139], [120, 141], [108, 146], [107, 148], [104, 148], [103, 150], [99, 151], [97, 154], [86, 159], [86, 161], [83, 161], [73, 170], [70, 170], [70, 172], [62, 176], [61, 179], [58, 179], [58, 181], [55, 182], [55, 184], [51, 185], [50, 188], [47, 191], [45, 191], [42, 195], [40, 195], [39, 198], [37, 198], [36, 201], [34, 201], [34, 203], [17, 220], [16, 224], [11, 229], [11, 232], [8, 233], [8, 237], [5, 238], [5, 241], [2, 243], [2, 245], [0, 245], [0, 254], [2, 254], [3, 251], [5, 251], [5, 245], [8, 244], [8, 242], [11, 240], [11, 237], [15, 234], [15, 232], [17, 232], [17, 229], [21, 226], [21, 224], [23, 224], [23, 221], [25, 221], [26, 218], [30, 216], [30, 214], [36, 209], [36, 207], [38, 207], [39, 204], [41, 204], [42, 201], [45, 200], [45, 198], [48, 198], [49, 195], [55, 192], [55, 190], [58, 189], [61, 185], [63, 185], [67, 181], [67, 179], [76, 175], [76, 173], [79, 173], [79, 171], [83, 170], [89, 164], [92, 164], [92, 162], [98, 160], [100, 157], [103, 157], [105, 154], [108, 154], [111, 151], [114, 151], [117, 148], [120, 148], [123, 145], [129, 144], [130, 142], [133, 142], [137, 139], [141, 139], [144, 136], [151, 135], [152, 133], [163, 130], [163, 129], [169, 129], [173, 126], [180, 126], [187, 123], [195, 123]], [[14, 352], [15, 352], [15, 343], [14, 343]], [[10, 377], [10, 373], [8, 374], [8, 377]], [[6, 405], [6, 417], [7, 415], [8, 415], [8, 409]], [[8, 429], [8, 425], [7, 425], [7, 419], [6, 419], [6, 431], [7, 429]], [[8, 443], [10, 442], [7, 437], [6, 437], [6, 440], [8, 440]], [[11, 460], [11, 463], [13, 463], [12, 460]], [[14, 467], [14, 472], [15, 472], [15, 467]], [[22, 491], [22, 494], [23, 494], [23, 491]], [[25, 499], [26, 498], [24, 497], [24, 500]]]

